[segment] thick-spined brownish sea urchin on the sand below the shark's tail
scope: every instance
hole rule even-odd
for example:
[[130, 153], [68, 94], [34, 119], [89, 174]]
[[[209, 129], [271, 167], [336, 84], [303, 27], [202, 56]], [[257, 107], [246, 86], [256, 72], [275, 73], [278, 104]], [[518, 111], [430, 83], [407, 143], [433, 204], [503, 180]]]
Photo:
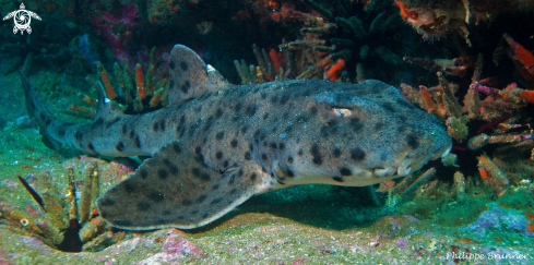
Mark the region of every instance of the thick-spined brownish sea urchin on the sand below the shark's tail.
[[[99, 172], [96, 162], [90, 164], [84, 181], [75, 181], [72, 168], [68, 169], [68, 188], [64, 195], [56, 189], [49, 173], [37, 177], [40, 192], [36, 192], [27, 181], [19, 177], [21, 183], [40, 206], [22, 210], [0, 200], [0, 217], [20, 227], [47, 245], [68, 252], [98, 251], [123, 238], [123, 232], [112, 232], [110, 227], [98, 217], [94, 201], [99, 195]], [[33, 177], [35, 178], [35, 177]], [[80, 201], [76, 186], [82, 186]], [[31, 210], [28, 210], [28, 207]], [[106, 241], [96, 240], [102, 233], [110, 236]]]

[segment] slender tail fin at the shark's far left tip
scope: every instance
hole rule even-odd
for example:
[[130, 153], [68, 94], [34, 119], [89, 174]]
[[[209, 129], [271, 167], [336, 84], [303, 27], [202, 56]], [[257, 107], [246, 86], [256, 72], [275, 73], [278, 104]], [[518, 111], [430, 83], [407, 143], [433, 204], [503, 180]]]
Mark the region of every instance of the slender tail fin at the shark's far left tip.
[[59, 149], [61, 147], [61, 142], [55, 140], [49, 134], [48, 128], [52, 123], [57, 123], [58, 120], [54, 115], [43, 105], [43, 103], [37, 98], [37, 94], [27, 81], [24, 73], [19, 70], [19, 75], [21, 77], [22, 89], [24, 91], [24, 97], [26, 99], [26, 111], [27, 115], [35, 120], [37, 125], [39, 125], [39, 133], [43, 136], [43, 143], [51, 149]]

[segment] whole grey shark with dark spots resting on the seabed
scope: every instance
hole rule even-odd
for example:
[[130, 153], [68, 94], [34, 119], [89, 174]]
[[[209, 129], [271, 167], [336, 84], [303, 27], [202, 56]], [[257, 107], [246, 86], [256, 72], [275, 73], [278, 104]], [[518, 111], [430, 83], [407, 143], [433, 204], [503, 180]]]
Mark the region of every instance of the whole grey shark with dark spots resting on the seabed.
[[97, 201], [114, 227], [192, 229], [253, 195], [297, 184], [371, 185], [447, 155], [435, 117], [379, 81], [230, 85], [191, 49], [170, 52], [169, 106], [124, 115], [100, 86], [92, 123], [66, 123], [21, 72], [27, 112], [50, 148], [150, 156]]

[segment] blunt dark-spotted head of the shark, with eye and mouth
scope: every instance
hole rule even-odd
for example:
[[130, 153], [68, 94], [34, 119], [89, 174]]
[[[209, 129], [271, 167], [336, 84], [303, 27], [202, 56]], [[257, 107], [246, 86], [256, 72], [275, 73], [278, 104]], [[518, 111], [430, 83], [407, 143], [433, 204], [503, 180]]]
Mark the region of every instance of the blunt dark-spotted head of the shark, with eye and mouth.
[[289, 152], [278, 150], [271, 165], [285, 184], [375, 184], [405, 177], [452, 147], [438, 119], [379, 81], [311, 92], [293, 110], [300, 120], [288, 119], [304, 130], [292, 132], [284, 142]]

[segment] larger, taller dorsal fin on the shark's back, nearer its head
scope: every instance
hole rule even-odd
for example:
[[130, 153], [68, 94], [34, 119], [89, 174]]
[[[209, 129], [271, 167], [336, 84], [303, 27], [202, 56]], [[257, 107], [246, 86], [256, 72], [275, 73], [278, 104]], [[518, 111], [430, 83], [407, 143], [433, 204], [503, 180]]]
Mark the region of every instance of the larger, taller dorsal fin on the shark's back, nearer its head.
[[230, 87], [224, 77], [183, 45], [170, 51], [169, 105], [198, 98], [206, 93]]

